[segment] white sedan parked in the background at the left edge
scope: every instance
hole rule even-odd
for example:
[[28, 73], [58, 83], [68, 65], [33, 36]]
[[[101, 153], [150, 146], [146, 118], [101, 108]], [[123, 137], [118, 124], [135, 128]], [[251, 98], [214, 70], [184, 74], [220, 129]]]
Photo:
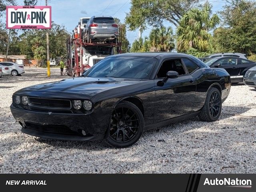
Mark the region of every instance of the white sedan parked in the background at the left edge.
[[7, 61], [6, 62], [0, 62], [0, 66], [2, 68], [6, 69], [7, 74], [11, 74], [12, 76], [18, 76], [19, 74], [22, 74], [22, 73], [25, 72], [24, 66], [22, 64], [19, 65], [19, 64], [16, 64], [14, 62], [7, 62]]

